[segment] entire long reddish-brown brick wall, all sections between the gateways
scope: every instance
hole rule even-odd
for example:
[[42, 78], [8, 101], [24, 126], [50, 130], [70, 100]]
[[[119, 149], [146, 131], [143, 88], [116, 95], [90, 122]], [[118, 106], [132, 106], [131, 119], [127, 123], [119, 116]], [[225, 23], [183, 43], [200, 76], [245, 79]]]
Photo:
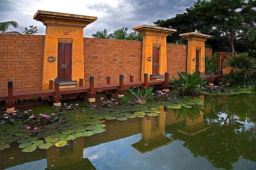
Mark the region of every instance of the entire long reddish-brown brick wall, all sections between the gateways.
[[[0, 34], [0, 93], [7, 92], [7, 81], [14, 81], [14, 91], [40, 90], [45, 36]], [[95, 84], [106, 84], [106, 76], [118, 83], [140, 80], [142, 42], [84, 38], [84, 81], [95, 77]], [[205, 48], [211, 56], [211, 48]], [[167, 71], [175, 75], [186, 70], [186, 45], [167, 44]], [[176, 74], [177, 75], [177, 74]]]

